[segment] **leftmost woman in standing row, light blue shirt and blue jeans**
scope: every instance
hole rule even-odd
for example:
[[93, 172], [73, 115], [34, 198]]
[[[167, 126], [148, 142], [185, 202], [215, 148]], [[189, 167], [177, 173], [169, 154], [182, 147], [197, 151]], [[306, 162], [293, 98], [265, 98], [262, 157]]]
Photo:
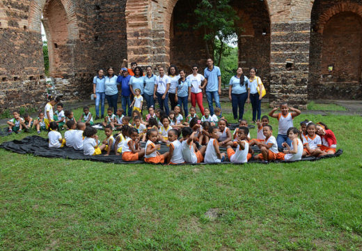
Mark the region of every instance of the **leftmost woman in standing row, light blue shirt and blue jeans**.
[[105, 93], [105, 78], [104, 71], [98, 70], [97, 76], [93, 78], [93, 94], [95, 98], [95, 119], [100, 119], [100, 109], [101, 109], [101, 118], [104, 118], [104, 100], [106, 99]]

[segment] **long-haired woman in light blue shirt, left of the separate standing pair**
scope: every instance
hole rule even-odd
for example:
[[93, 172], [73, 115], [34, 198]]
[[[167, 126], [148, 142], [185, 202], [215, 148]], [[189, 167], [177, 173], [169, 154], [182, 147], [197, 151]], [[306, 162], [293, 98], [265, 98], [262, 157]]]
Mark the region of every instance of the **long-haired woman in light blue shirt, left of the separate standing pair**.
[[233, 106], [234, 119], [237, 119], [237, 108], [239, 107], [239, 120], [244, 115], [244, 105], [248, 98], [248, 78], [244, 76], [242, 68], [237, 68], [236, 75], [229, 82], [229, 99]]

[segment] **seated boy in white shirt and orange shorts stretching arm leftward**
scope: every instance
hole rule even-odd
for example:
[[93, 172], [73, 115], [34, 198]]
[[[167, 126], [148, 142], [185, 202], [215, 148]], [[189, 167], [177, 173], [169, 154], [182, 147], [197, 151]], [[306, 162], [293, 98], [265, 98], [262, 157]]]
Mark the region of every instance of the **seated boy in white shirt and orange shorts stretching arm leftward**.
[[283, 153], [279, 153], [278, 144], [276, 143], [275, 137], [273, 134], [273, 128], [270, 125], [267, 125], [262, 128], [262, 133], [264, 133], [265, 139], [264, 142], [258, 142], [257, 140], [252, 140], [249, 143], [249, 146], [253, 144], [257, 145], [262, 153], [254, 156], [255, 160], [264, 160], [264, 162], [272, 160], [283, 160]]

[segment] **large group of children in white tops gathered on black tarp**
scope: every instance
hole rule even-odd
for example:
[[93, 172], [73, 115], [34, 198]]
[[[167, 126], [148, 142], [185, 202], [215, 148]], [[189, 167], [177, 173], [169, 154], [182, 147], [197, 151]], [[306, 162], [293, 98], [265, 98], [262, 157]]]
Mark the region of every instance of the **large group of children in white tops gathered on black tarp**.
[[[52, 107], [56, 105], [56, 116], [53, 116]], [[276, 113], [280, 109], [281, 112]], [[102, 125], [106, 139], [101, 142], [97, 137], [97, 130], [93, 128], [93, 118], [88, 107], [78, 122], [72, 112], [63, 112], [63, 105], [52, 99], [40, 113], [38, 119], [32, 123], [29, 116], [20, 118], [14, 112], [14, 119], [9, 121], [9, 129], [36, 127], [38, 131], [49, 130], [49, 147], [69, 146], [76, 150], [83, 150], [85, 155], [122, 155], [125, 161], [144, 160], [151, 163], [217, 163], [228, 158], [230, 162], [245, 163], [251, 158], [269, 162], [273, 160], [301, 160], [304, 156], [320, 157], [336, 152], [336, 137], [324, 123], [302, 121], [298, 130], [293, 126], [293, 119], [301, 114], [299, 109], [288, 107], [283, 102], [269, 112], [269, 116], [278, 119], [278, 136], [272, 135], [273, 128], [269, 125], [269, 117], [262, 116], [257, 122], [257, 137], [251, 139], [248, 123], [239, 121], [239, 127], [232, 133], [228, 128], [228, 121], [220, 118], [220, 109], [210, 115], [205, 109], [201, 119], [196, 109], [191, 107], [189, 115], [184, 118], [180, 107], [166, 115], [161, 109], [149, 107], [148, 115], [143, 116], [139, 109], [134, 109], [132, 118], [123, 115], [123, 109], [113, 114], [113, 109], [107, 109], [107, 116]], [[131, 123], [132, 121], [132, 123]], [[66, 127], [64, 139], [59, 129]], [[113, 130], [120, 130], [113, 135]], [[141, 148], [145, 143], [145, 148]], [[166, 153], [159, 153], [161, 144], [168, 147]], [[257, 146], [260, 153], [253, 156], [253, 147]], [[221, 153], [220, 147], [226, 148]], [[255, 149], [255, 147], [254, 147]]]

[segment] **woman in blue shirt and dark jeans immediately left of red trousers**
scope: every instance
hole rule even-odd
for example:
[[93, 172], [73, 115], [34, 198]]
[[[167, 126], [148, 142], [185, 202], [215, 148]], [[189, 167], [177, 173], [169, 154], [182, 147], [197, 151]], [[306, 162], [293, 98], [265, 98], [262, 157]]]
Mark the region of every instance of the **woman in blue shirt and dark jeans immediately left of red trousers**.
[[178, 86], [176, 86], [175, 101], [178, 101], [180, 109], [184, 105], [184, 117], [189, 115], [187, 109], [187, 101], [191, 100], [191, 82], [186, 78], [184, 70], [180, 70], [180, 78], [178, 79]]

